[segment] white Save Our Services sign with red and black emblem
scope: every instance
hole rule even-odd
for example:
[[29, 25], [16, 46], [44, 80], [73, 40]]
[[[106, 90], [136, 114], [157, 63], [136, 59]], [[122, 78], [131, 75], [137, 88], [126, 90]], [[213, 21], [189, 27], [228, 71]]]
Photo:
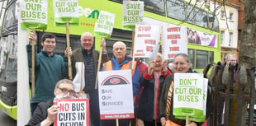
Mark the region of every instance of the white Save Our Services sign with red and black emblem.
[[101, 119], [134, 118], [131, 70], [98, 72]]

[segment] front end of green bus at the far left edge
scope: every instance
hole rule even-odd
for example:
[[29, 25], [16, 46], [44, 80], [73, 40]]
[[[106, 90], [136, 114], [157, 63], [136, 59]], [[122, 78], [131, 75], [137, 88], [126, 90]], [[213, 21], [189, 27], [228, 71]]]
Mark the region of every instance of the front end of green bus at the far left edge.
[[16, 0], [0, 7], [0, 110], [17, 119], [17, 18]]

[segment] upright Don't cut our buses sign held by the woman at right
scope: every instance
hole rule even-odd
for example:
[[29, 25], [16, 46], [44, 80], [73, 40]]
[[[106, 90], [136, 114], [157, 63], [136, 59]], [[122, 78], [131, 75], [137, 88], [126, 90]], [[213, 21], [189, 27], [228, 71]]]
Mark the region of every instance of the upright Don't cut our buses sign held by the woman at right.
[[202, 73], [174, 73], [173, 115], [200, 117], [204, 110]]

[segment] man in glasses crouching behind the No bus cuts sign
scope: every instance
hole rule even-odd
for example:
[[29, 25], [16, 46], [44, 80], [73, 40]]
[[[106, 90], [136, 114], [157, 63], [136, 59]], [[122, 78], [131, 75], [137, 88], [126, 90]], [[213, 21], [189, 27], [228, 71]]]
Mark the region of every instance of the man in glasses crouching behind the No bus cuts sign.
[[[68, 79], [63, 79], [57, 82], [54, 94], [55, 99], [70, 99], [77, 96], [74, 91], [73, 82]], [[26, 126], [53, 126], [58, 110], [59, 106], [54, 105], [54, 99], [48, 100], [47, 102], [40, 102]]]

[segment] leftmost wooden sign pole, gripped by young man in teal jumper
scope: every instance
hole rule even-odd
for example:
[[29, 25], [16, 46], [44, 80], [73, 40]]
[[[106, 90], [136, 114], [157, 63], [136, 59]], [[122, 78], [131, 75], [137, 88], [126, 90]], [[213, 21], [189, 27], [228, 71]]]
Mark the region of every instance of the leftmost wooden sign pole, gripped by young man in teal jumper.
[[[32, 30], [33, 34], [36, 35], [36, 31]], [[32, 97], [35, 96], [35, 40], [31, 40], [31, 81], [32, 81]]]

